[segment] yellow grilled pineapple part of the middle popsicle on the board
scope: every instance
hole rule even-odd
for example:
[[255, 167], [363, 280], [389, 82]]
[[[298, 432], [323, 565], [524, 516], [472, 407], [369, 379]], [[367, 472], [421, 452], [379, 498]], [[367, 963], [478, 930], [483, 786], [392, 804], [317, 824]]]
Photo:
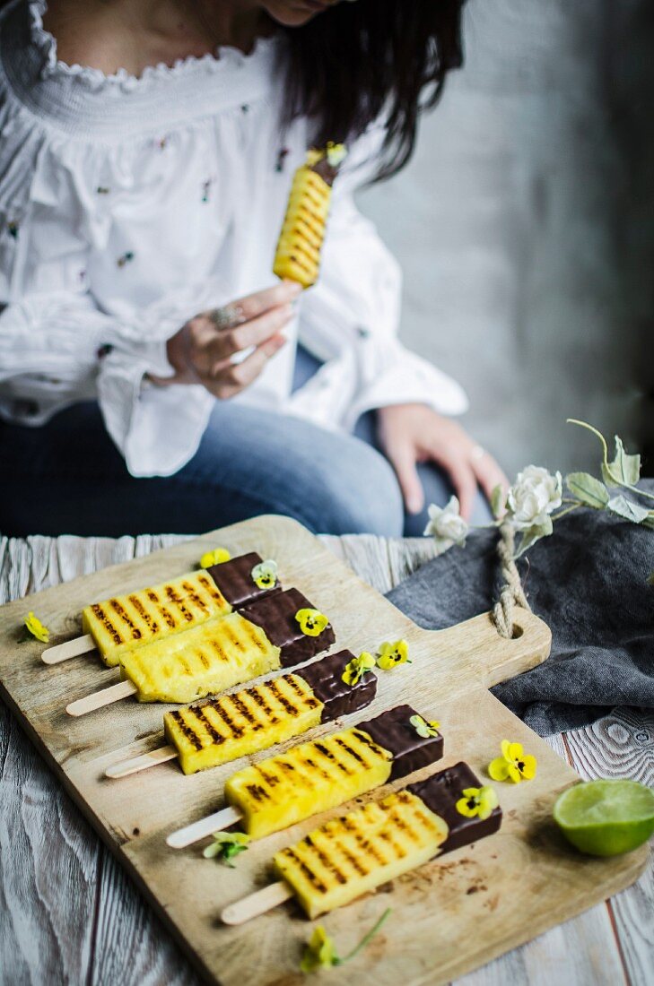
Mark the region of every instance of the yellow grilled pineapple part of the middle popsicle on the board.
[[323, 703], [304, 678], [274, 681], [164, 715], [166, 737], [184, 774], [236, 760], [318, 726]]

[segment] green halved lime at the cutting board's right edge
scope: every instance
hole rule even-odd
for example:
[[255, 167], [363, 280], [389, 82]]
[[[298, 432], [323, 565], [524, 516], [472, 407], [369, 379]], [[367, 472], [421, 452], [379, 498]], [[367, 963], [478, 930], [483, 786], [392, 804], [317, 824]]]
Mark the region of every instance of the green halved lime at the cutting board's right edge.
[[580, 852], [618, 856], [654, 833], [654, 791], [638, 781], [582, 781], [559, 795], [553, 813]]

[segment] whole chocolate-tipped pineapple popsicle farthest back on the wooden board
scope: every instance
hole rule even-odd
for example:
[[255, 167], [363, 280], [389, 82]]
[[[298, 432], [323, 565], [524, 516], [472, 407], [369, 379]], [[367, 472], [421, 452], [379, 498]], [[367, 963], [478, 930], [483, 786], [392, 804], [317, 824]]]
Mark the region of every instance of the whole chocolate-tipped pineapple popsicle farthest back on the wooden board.
[[158, 586], [95, 602], [82, 610], [86, 636], [48, 647], [43, 662], [58, 664], [96, 647], [105, 664], [113, 668], [127, 651], [277, 592], [279, 583], [274, 576], [256, 577], [262, 565], [260, 556], [251, 551]]

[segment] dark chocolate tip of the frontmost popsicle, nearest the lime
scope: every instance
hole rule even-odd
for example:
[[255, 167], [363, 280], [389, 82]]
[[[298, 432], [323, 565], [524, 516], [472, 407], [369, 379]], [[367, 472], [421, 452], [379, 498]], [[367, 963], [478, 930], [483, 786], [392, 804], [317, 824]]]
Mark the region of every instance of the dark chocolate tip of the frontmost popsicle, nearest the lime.
[[439, 771], [426, 781], [409, 784], [407, 791], [417, 795], [427, 808], [447, 821], [450, 834], [441, 847], [441, 852], [467, 846], [477, 839], [496, 832], [502, 823], [502, 810], [495, 808], [487, 818], [467, 818], [457, 811], [456, 805], [466, 788], [480, 788], [483, 785], [467, 763], [456, 763], [454, 767]]

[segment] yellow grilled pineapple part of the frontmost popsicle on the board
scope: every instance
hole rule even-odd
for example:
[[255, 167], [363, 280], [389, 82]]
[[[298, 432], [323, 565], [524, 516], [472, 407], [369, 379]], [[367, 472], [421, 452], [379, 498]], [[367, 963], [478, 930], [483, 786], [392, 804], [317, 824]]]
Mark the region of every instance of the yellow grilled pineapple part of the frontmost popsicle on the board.
[[447, 823], [408, 791], [334, 818], [273, 857], [310, 918], [342, 907], [422, 866], [448, 835]]

